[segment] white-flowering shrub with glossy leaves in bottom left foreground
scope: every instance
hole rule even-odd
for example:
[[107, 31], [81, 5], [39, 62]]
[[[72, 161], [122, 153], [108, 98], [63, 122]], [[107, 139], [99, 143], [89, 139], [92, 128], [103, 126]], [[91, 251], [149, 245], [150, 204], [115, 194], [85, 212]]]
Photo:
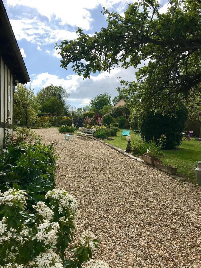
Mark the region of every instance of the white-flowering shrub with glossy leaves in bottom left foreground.
[[30, 211], [28, 197], [21, 189], [0, 191], [0, 268], [82, 267], [89, 261], [99, 242], [89, 231], [70, 248], [71, 255], [65, 255], [76, 228], [75, 198], [53, 189], [46, 193], [45, 202], [32, 205]]

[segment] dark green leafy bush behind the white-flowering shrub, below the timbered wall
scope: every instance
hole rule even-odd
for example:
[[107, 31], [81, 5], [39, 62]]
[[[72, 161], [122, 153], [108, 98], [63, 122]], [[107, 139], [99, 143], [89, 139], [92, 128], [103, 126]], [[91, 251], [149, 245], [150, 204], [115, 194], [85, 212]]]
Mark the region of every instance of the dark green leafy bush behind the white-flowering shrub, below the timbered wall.
[[56, 159], [54, 144], [9, 144], [0, 152], [0, 190], [17, 184], [28, 191], [29, 204], [44, 200], [46, 191], [54, 187]]

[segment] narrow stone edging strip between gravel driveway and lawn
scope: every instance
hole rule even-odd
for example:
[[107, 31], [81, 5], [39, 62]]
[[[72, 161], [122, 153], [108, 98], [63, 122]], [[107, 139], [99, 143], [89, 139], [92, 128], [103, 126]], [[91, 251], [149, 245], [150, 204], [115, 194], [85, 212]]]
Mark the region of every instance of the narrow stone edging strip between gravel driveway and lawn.
[[[138, 158], [138, 157], [135, 157], [135, 156], [133, 156], [133, 155], [131, 155], [131, 154], [125, 152], [124, 150], [122, 150], [122, 149], [120, 149], [120, 148], [118, 148], [118, 147], [115, 147], [115, 146], [113, 146], [113, 145], [111, 145], [111, 144], [109, 144], [109, 143], [107, 143], [107, 142], [105, 142], [105, 141], [102, 141], [102, 140], [100, 140], [100, 139], [98, 139], [98, 138], [94, 138], [94, 140], [99, 141], [99, 142], [101, 142], [101, 143], [107, 145], [108, 147], [110, 147], [110, 148], [116, 150], [117, 152], [121, 153], [122, 155], [126, 155], [126, 156], [128, 156], [128, 157], [130, 157], [130, 158], [132, 158], [132, 159], [134, 159], [134, 160], [136, 160], [136, 161], [138, 161], [138, 162], [141, 162], [141, 163], [143, 162], [145, 165], [147, 165], [147, 166], [149, 166], [149, 167], [151, 167], [151, 168], [153, 168], [153, 169], [157, 169], [155, 166], [151, 166], [151, 165], [145, 163], [143, 159]], [[166, 175], [169, 175], [169, 177], [172, 177], [172, 178], [174, 178], [175, 180], [182, 182], [183, 184], [186, 184], [186, 185], [188, 184], [188, 186], [190, 186], [190, 187], [198, 186], [198, 188], [201, 190], [201, 186], [199, 186], [199, 185], [195, 185], [194, 183], [189, 183], [189, 182], [186, 181], [186, 179], [183, 178], [183, 177], [178, 177], [177, 175], [170, 175], [170, 174], [168, 174], [168, 173], [166, 173], [166, 172], [164, 172], [164, 171], [162, 171], [162, 170], [160, 170], [160, 169], [157, 169], [157, 170], [159, 170], [160, 172], [165, 173]]]

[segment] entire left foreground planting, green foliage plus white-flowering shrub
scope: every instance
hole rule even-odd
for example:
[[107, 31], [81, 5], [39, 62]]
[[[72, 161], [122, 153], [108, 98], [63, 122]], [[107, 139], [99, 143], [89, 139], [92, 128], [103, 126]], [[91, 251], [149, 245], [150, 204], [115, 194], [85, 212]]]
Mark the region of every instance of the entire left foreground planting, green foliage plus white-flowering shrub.
[[[88, 231], [65, 255], [78, 204], [54, 188], [54, 144], [7, 144], [0, 152], [0, 268], [82, 267], [99, 241]], [[89, 267], [96, 267], [93, 261]], [[107, 267], [107, 264], [105, 264]]]

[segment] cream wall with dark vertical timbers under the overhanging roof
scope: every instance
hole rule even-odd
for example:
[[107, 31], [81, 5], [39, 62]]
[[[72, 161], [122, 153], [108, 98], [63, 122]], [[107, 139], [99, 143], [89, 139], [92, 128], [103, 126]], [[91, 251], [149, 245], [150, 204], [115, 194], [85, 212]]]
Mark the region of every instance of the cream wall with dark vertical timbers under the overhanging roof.
[[13, 133], [13, 75], [0, 57], [0, 147], [3, 146], [5, 129]]

